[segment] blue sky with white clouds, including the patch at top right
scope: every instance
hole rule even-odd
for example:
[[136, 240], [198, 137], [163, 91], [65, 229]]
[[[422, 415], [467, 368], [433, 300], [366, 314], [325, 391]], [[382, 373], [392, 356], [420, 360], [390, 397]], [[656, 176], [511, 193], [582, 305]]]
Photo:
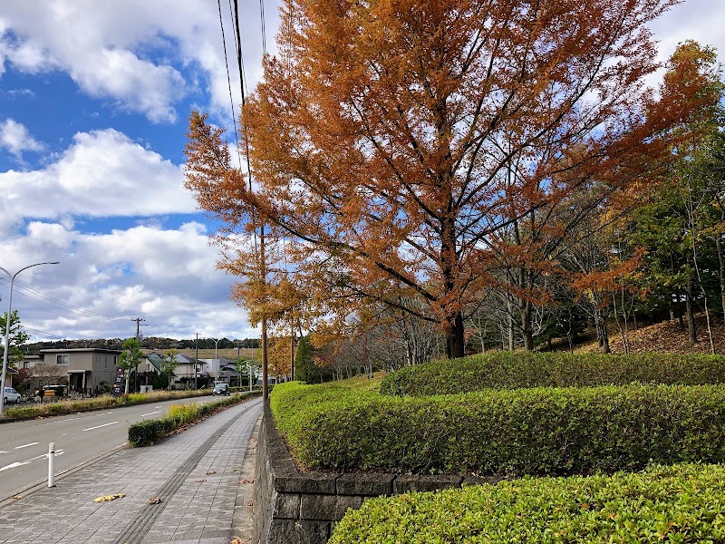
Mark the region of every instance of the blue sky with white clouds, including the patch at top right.
[[[264, 39], [260, 5], [264, 8]], [[239, 2], [249, 89], [277, 4]], [[215, 220], [184, 188], [189, 113], [231, 127], [240, 102], [229, 2], [0, 2], [0, 267], [31, 342], [258, 337], [216, 267]], [[725, 2], [689, 0], [651, 25], [660, 59], [694, 39], [725, 60]], [[4, 276], [0, 271], [0, 276]], [[8, 285], [0, 280], [0, 312]]]

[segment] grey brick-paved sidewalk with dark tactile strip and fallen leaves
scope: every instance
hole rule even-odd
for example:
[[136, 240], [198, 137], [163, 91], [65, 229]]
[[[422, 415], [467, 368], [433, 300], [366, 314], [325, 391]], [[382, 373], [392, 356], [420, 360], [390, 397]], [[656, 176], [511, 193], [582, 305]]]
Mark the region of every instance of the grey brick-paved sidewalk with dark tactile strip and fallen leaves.
[[[252, 484], [243, 482], [254, 478], [252, 435], [261, 406], [259, 399], [238, 404], [155, 446], [114, 452], [56, 480], [53, 489], [24, 496], [0, 509], [0, 543], [228, 544], [246, 536], [238, 532], [249, 526]], [[126, 496], [93, 501], [113, 493]], [[161, 502], [150, 505], [155, 497]]]

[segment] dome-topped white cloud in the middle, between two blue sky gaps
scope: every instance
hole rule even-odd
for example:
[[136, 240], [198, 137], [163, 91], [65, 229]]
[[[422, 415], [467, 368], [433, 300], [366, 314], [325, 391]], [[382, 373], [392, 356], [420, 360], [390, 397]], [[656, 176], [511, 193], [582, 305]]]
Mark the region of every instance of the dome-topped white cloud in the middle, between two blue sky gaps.
[[24, 217], [108, 218], [193, 213], [179, 166], [112, 129], [78, 133], [44, 170], [0, 172], [0, 232]]

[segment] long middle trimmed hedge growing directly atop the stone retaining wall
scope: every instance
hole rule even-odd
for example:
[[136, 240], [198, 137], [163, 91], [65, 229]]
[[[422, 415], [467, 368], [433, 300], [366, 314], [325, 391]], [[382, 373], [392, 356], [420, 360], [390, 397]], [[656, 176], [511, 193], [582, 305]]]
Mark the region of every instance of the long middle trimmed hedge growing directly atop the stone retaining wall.
[[720, 385], [387, 397], [290, 383], [271, 407], [311, 469], [565, 475], [725, 462]]

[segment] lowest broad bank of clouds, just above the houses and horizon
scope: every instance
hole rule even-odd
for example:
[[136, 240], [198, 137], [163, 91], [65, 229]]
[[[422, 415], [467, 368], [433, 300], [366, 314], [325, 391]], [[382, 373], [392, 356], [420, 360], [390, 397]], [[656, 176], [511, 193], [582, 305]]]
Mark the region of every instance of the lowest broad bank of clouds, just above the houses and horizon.
[[[127, 337], [138, 316], [146, 320], [146, 335], [255, 336], [246, 314], [228, 300], [233, 280], [216, 269], [217, 258], [206, 227], [196, 222], [92, 234], [34, 221], [26, 236], [5, 241], [2, 266], [60, 261], [29, 268], [17, 279], [14, 307], [32, 324], [34, 338], [41, 332], [48, 338]], [[2, 296], [6, 285], [0, 284]]]

